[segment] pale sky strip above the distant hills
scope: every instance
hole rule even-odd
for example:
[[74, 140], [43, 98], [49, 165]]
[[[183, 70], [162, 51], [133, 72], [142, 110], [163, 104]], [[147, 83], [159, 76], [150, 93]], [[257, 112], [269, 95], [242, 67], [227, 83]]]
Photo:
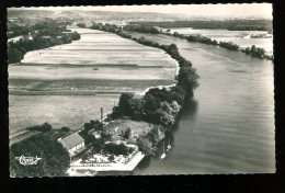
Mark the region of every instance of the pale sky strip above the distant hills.
[[272, 19], [271, 3], [243, 4], [179, 4], [179, 5], [109, 5], [109, 7], [38, 7], [26, 9], [45, 10], [86, 10], [86, 11], [119, 11], [119, 12], [158, 12], [183, 14], [185, 16], [217, 18], [264, 18]]

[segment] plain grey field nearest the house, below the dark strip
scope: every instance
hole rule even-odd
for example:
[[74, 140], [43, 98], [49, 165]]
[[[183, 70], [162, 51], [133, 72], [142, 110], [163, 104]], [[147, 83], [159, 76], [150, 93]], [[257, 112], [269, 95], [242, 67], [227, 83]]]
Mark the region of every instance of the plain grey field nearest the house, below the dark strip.
[[100, 118], [118, 102], [118, 94], [98, 95], [9, 95], [10, 136], [24, 128], [48, 122], [54, 128], [78, 129], [90, 120]]

